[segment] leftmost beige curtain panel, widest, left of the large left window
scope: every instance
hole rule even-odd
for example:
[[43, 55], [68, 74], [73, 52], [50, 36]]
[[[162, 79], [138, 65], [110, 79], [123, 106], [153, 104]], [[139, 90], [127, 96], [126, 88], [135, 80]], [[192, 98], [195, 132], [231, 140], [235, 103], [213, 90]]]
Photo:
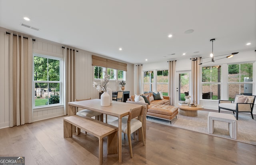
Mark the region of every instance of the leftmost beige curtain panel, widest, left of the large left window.
[[33, 122], [32, 113], [32, 38], [9, 37], [10, 127]]

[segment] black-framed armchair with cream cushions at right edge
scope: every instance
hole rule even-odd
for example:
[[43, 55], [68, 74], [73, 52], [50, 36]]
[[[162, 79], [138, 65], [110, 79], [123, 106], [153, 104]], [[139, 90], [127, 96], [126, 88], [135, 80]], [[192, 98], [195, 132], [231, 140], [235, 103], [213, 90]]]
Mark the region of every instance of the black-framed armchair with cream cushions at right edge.
[[[234, 101], [229, 100], [219, 100], [219, 112], [220, 109], [225, 109], [236, 112], [236, 119], [238, 120], [239, 112], [250, 112], [252, 115], [252, 110], [254, 107], [255, 95], [238, 95], [236, 94]], [[253, 119], [253, 115], [252, 115]]]

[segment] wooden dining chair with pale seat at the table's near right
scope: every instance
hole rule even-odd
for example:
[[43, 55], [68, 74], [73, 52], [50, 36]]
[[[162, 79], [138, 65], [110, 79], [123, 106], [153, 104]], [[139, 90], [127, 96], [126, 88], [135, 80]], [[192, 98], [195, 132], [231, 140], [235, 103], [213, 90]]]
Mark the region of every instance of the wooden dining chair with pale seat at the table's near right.
[[[130, 157], [132, 158], [132, 140], [131, 134], [134, 133], [136, 130], [140, 129], [142, 134], [142, 142], [145, 145], [144, 139], [144, 131], [143, 131], [143, 123], [142, 123], [142, 116], [145, 109], [145, 105], [142, 105], [138, 108], [130, 109], [128, 117], [122, 117], [122, 132], [127, 134], [129, 148], [130, 148]], [[118, 119], [110, 122], [109, 124], [118, 127]]]

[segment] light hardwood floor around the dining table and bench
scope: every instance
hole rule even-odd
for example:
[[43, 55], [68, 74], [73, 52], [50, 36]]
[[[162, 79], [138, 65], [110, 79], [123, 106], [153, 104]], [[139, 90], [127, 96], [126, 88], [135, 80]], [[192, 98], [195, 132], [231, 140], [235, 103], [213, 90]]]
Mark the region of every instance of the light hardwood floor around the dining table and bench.
[[[85, 134], [63, 138], [63, 117], [0, 129], [0, 156], [24, 156], [26, 165], [98, 164], [98, 138]], [[108, 118], [109, 119], [109, 118]], [[146, 145], [122, 137], [122, 164], [253, 165], [256, 146], [147, 121]], [[118, 154], [106, 154], [103, 165], [117, 165]]]

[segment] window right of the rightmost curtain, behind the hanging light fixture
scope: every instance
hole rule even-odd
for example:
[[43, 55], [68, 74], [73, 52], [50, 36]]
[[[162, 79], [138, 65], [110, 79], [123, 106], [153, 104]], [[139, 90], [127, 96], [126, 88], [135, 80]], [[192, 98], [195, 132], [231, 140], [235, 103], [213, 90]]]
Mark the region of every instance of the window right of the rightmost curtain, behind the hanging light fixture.
[[220, 99], [221, 66], [202, 67], [202, 99]]

